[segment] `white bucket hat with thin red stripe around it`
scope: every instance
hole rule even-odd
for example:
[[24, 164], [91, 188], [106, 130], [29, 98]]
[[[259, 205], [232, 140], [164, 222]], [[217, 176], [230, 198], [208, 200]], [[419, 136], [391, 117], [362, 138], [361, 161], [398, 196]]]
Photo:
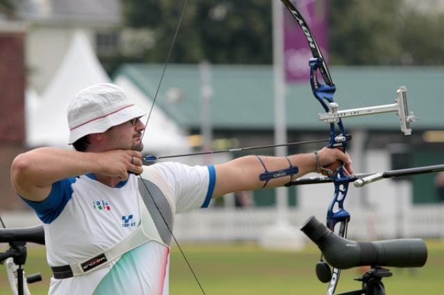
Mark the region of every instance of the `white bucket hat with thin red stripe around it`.
[[77, 93], [68, 106], [68, 144], [145, 114], [121, 87], [110, 83], [92, 85]]

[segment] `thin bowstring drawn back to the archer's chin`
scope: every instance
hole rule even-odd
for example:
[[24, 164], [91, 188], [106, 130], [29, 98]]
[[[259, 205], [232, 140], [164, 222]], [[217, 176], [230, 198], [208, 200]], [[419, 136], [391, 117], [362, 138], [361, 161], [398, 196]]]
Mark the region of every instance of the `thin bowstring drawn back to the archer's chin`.
[[[176, 33], [174, 33], [173, 42], [171, 42], [171, 46], [170, 46], [170, 48], [169, 48], [169, 52], [168, 52], [168, 55], [167, 55], [167, 61], [165, 62], [164, 69], [163, 69], [163, 71], [162, 71], [162, 75], [160, 76], [160, 81], [159, 81], [159, 84], [157, 85], [157, 90], [155, 91], [155, 96], [154, 96], [154, 98], [153, 98], [153, 103], [151, 104], [151, 109], [150, 109], [150, 111], [148, 112], [148, 118], [146, 118], [145, 129], [144, 129], [144, 132], [142, 132], [142, 136], [141, 136], [141, 138], [140, 138], [140, 142], [141, 142], [141, 143], [142, 143], [142, 139], [144, 138], [145, 131], [146, 131], [147, 126], [148, 126], [148, 121], [150, 120], [150, 118], [151, 118], [151, 114], [153, 113], [155, 100], [157, 99], [157, 95], [158, 95], [158, 93], [159, 93], [160, 86], [162, 85], [162, 81], [163, 81], [163, 79], [164, 79], [165, 71], [167, 71], [167, 65], [168, 65], [168, 62], [169, 62], [169, 57], [171, 56], [171, 52], [173, 51], [174, 43], [176, 43], [176, 37], [178, 36], [178, 32], [179, 32], [179, 28], [180, 28], [180, 24], [182, 23], [183, 16], [185, 15], [185, 8], [187, 8], [187, 4], [188, 4], [188, 0], [185, 0], [185, 5], [183, 6], [182, 13], [180, 14], [180, 19], [179, 19], [179, 22], [178, 22], [178, 26], [177, 26], [177, 28], [176, 28]], [[146, 191], [148, 192], [148, 195], [150, 195], [151, 199], [153, 199], [153, 203], [155, 204], [155, 207], [157, 208], [157, 211], [159, 211], [160, 216], [162, 216], [162, 220], [164, 220], [164, 223], [165, 223], [165, 225], [167, 226], [167, 229], [168, 229], [169, 233], [171, 233], [171, 236], [173, 237], [174, 242], [176, 242], [176, 245], [178, 246], [178, 249], [180, 250], [180, 253], [182, 253], [182, 257], [185, 259], [185, 262], [187, 262], [187, 265], [188, 265], [188, 267], [189, 267], [189, 270], [191, 271], [191, 274], [193, 274], [194, 278], [196, 279], [196, 282], [198, 283], [198, 285], [199, 285], [199, 287], [200, 287], [200, 290], [201, 290], [202, 293], [205, 295], [205, 291], [203, 290], [202, 285], [200, 285], [200, 281], [198, 280], [196, 274], [194, 273], [193, 268], [192, 268], [191, 265], [189, 264], [189, 261], [188, 261], [188, 259], [187, 259], [187, 256], [185, 256], [185, 253], [182, 251], [182, 248], [180, 247], [179, 242], [178, 242], [178, 240], [176, 239], [176, 236], [173, 234], [173, 231], [172, 231], [171, 228], [169, 227], [169, 224], [167, 223], [167, 220], [165, 220], [165, 217], [164, 217], [164, 215], [162, 214], [162, 211], [160, 211], [159, 206], [157, 206], [157, 203], [155, 202], [155, 199], [154, 199], [153, 195], [151, 195], [150, 190], [148, 190], [148, 186], [146, 186], [145, 181], [144, 181], [144, 179], [142, 178], [142, 175], [139, 175], [139, 177], [140, 177], [140, 179], [142, 180], [142, 183], [144, 184], [144, 187], [145, 187]]]

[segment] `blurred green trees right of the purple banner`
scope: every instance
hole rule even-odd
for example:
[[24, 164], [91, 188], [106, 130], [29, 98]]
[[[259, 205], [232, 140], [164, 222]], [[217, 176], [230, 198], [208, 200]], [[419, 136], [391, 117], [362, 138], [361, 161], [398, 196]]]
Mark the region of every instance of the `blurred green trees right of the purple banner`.
[[440, 54], [444, 49], [444, 11], [427, 13], [419, 4], [405, 0], [332, 0], [330, 63], [444, 64]]

